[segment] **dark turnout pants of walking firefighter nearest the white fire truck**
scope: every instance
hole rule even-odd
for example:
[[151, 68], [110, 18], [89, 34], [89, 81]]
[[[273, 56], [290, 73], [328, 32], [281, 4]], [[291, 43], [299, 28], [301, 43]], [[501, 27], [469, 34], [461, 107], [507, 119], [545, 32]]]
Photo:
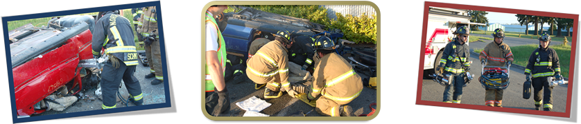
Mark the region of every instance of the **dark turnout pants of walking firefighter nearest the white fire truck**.
[[464, 73], [452, 74], [454, 81], [444, 87], [444, 102], [460, 103], [462, 97], [462, 85], [464, 85]]

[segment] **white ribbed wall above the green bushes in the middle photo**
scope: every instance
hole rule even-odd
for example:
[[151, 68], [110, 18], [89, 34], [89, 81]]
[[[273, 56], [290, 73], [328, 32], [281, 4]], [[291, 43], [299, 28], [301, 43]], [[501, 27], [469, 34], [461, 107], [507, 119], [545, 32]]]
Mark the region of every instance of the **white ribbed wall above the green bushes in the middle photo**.
[[321, 7], [327, 9], [327, 16], [329, 19], [337, 19], [335, 12], [340, 12], [343, 16], [351, 14], [354, 17], [361, 17], [363, 12], [368, 17], [372, 17], [372, 14], [376, 14], [375, 8], [369, 5], [321, 5]]

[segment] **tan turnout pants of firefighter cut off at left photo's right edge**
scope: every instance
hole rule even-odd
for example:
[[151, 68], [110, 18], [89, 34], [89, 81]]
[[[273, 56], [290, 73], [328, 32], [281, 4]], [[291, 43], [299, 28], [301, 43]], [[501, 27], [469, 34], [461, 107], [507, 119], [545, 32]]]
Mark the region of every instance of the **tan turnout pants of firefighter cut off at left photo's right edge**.
[[150, 72], [155, 74], [155, 79], [163, 81], [164, 71], [162, 70], [162, 51], [159, 48], [159, 39], [151, 45], [145, 45], [145, 50]]

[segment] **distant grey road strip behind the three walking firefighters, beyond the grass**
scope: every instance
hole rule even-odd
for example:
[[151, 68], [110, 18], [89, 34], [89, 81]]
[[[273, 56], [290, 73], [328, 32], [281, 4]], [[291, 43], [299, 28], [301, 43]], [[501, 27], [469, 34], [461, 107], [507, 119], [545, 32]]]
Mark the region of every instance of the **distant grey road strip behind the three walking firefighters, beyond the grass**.
[[[470, 36], [476, 36], [476, 37], [487, 37], [487, 38], [491, 38], [494, 39], [494, 37], [492, 37], [492, 35], [487, 35], [487, 34], [470, 34]], [[488, 45], [488, 43], [492, 43], [493, 40], [485, 40], [485, 39], [480, 39], [484, 42], [480, 42], [480, 41], [475, 41], [475, 42], [471, 42], [469, 43], [470, 46], [470, 51], [474, 51], [474, 48], [478, 48], [478, 49], [483, 49], [484, 47], [486, 47], [486, 45]], [[517, 37], [504, 37], [503, 43], [506, 43], [508, 46], [519, 46], [519, 45], [527, 45], [527, 44], [539, 44], [539, 40], [538, 39], [526, 39], [526, 38], [517, 38]], [[563, 41], [551, 41], [550, 45], [560, 45], [562, 44]], [[567, 43], [568, 45], [571, 45], [571, 42]]]

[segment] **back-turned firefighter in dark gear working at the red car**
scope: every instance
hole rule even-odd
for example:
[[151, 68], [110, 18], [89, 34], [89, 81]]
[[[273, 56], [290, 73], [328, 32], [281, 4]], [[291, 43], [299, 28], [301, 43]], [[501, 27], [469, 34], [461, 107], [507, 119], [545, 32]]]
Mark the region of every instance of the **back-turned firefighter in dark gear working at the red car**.
[[[133, 41], [133, 30], [128, 19], [118, 14], [119, 11], [104, 12], [95, 23], [92, 38], [92, 50], [95, 58], [101, 58], [101, 49], [105, 48], [108, 56], [101, 73], [101, 90], [103, 91], [103, 109], [116, 107], [115, 93], [119, 90], [121, 79], [130, 94], [130, 101], [135, 105], [144, 103], [141, 85], [133, 76], [137, 62], [137, 50]], [[107, 41], [105, 41], [107, 40]]]

